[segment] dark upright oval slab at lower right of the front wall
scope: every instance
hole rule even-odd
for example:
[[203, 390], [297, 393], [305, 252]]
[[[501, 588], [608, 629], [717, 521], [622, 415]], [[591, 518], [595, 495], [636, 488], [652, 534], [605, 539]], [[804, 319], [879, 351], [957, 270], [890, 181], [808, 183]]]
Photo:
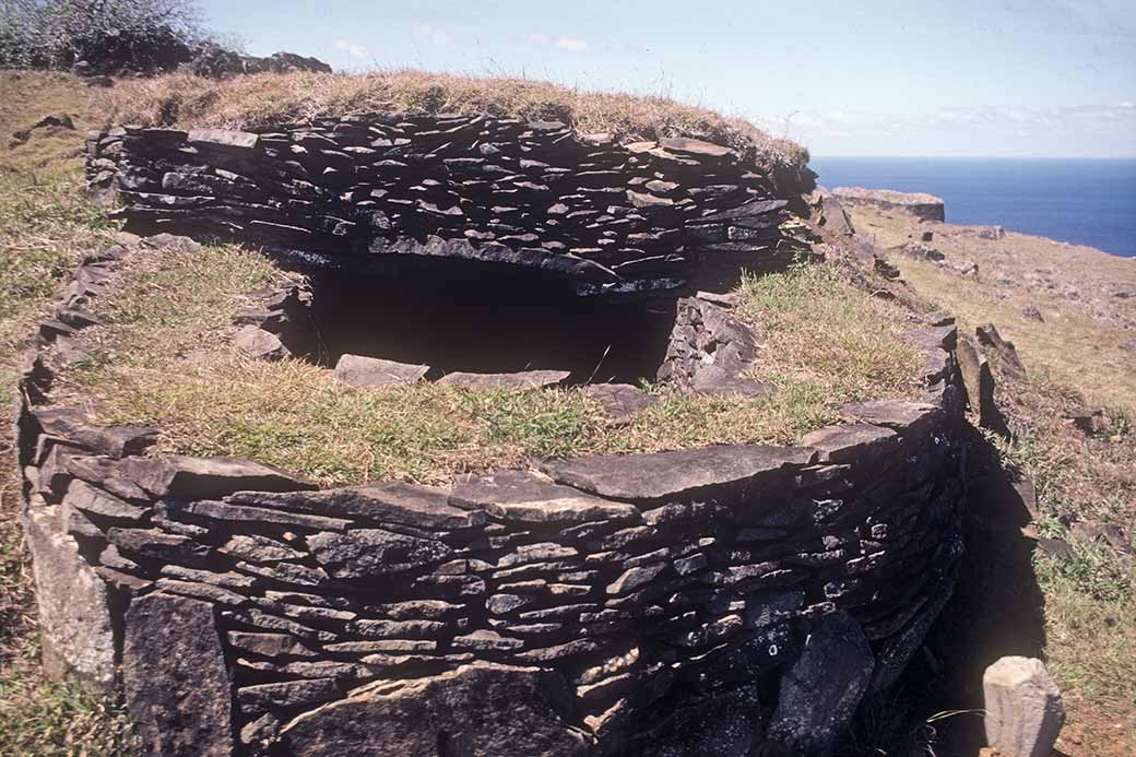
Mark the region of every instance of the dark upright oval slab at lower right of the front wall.
[[868, 640], [850, 615], [832, 613], [817, 621], [782, 679], [767, 734], [769, 754], [828, 754], [852, 719], [874, 664]]

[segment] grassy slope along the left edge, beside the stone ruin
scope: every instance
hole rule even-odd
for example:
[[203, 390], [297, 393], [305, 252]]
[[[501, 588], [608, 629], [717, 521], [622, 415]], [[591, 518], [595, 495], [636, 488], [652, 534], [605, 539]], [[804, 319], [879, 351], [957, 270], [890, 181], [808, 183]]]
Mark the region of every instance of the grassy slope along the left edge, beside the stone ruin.
[[[111, 231], [85, 201], [76, 157], [93, 125], [86, 88], [61, 74], [0, 72], [0, 402], [12, 399], [22, 340], [84, 250]], [[10, 135], [48, 114], [72, 116], [76, 131]], [[7, 411], [7, 410], [6, 410]], [[0, 454], [10, 450], [6, 426]], [[0, 473], [0, 754], [120, 754], [124, 732], [114, 707], [70, 685], [41, 680], [31, 565], [19, 527], [14, 466]]]

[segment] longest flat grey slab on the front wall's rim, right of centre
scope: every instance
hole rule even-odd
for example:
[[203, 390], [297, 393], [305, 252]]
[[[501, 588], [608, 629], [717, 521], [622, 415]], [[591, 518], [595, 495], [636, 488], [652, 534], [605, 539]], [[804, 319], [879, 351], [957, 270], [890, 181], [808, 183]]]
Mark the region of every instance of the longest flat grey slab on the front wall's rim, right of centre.
[[[894, 433], [894, 432], [892, 432]], [[552, 460], [542, 469], [559, 483], [600, 497], [685, 498], [712, 486], [737, 486], [785, 466], [808, 465], [811, 449], [727, 444], [650, 455], [593, 455]]]

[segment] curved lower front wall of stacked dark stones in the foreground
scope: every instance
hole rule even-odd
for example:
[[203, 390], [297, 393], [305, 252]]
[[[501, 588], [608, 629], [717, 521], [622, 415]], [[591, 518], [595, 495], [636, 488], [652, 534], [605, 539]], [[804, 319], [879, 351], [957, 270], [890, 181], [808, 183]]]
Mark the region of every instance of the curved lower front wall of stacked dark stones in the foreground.
[[[44, 322], [16, 427], [49, 671], [122, 691], [145, 754], [824, 754], [950, 596], [950, 319], [917, 334], [922, 401], [847, 406], [800, 447], [316, 490], [47, 401], [123, 253]], [[292, 301], [264, 299], [241, 317]]]

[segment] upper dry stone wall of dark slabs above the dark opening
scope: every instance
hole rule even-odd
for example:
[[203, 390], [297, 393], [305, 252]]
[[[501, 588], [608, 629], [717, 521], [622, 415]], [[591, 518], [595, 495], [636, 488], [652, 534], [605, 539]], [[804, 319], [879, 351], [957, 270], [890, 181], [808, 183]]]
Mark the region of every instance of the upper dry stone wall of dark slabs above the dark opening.
[[560, 122], [360, 115], [256, 132], [117, 127], [91, 188], [135, 228], [235, 238], [316, 265], [519, 266], [580, 293], [674, 290], [808, 248], [772, 176], [692, 139], [619, 144]]

